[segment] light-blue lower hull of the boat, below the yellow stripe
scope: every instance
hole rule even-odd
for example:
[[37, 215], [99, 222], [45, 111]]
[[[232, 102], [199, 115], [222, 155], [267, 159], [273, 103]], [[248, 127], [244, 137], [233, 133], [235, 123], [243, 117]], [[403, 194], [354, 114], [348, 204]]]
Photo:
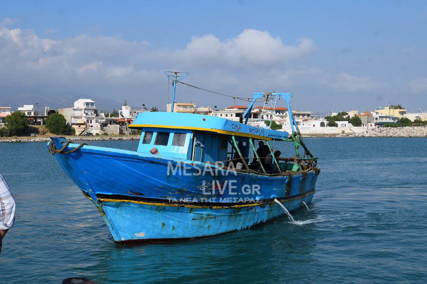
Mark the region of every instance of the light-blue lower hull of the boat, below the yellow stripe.
[[[313, 198], [314, 191], [280, 202], [292, 211]], [[275, 202], [237, 208], [102, 201], [102, 211], [117, 243], [159, 243], [242, 230], [283, 215]]]

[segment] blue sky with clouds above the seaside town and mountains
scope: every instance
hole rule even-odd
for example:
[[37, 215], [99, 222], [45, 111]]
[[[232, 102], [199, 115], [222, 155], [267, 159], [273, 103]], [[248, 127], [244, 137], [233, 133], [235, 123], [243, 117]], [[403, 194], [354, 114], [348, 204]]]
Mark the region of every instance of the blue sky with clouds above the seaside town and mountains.
[[[427, 1], [0, 4], [0, 93], [48, 87], [165, 109], [173, 70], [236, 97], [290, 92], [302, 111], [427, 109]], [[234, 105], [184, 85], [176, 101]]]

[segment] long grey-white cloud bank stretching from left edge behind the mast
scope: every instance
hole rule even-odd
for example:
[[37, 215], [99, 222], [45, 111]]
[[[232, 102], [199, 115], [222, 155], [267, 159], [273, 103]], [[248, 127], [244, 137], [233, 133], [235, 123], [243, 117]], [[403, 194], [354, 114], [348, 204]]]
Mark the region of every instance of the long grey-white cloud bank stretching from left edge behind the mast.
[[[89, 34], [54, 40], [29, 29], [3, 26], [0, 46], [0, 84], [51, 86], [161, 108], [168, 98], [162, 71], [171, 69], [190, 72], [185, 82], [240, 97], [325, 86], [328, 91], [363, 92], [381, 86], [370, 77], [331, 75], [304, 65], [315, 48], [311, 39], [284, 44], [281, 38], [255, 29], [228, 39], [213, 34], [193, 37], [185, 48], [159, 48], [147, 41]], [[230, 99], [184, 86], [178, 92], [182, 102], [232, 104]]]

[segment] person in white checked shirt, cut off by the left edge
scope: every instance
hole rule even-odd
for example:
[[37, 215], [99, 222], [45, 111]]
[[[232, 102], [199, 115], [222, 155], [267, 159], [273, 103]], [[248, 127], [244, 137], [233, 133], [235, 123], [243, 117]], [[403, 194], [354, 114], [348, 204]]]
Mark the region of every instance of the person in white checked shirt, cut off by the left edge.
[[15, 200], [10, 192], [6, 180], [0, 172], [0, 254], [1, 245], [7, 230], [13, 226], [15, 221]]

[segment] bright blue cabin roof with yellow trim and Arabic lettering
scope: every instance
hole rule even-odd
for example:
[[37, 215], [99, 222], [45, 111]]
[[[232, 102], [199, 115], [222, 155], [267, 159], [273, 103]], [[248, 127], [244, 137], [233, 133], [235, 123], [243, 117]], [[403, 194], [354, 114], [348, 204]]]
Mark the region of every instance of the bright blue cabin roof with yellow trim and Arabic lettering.
[[289, 137], [289, 134], [285, 131], [263, 129], [224, 118], [186, 113], [144, 112], [138, 114], [129, 127], [189, 129], [264, 140], [286, 139]]

